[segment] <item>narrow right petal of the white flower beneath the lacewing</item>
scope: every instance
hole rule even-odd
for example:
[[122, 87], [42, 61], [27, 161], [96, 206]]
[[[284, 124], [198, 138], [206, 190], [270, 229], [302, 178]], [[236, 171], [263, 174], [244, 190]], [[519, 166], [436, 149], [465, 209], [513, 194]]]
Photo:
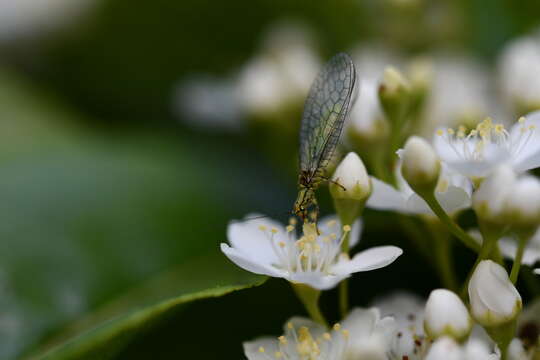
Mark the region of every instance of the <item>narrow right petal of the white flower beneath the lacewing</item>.
[[377, 246], [356, 254], [351, 260], [340, 261], [332, 270], [336, 274], [380, 269], [394, 262], [403, 250], [396, 246]]

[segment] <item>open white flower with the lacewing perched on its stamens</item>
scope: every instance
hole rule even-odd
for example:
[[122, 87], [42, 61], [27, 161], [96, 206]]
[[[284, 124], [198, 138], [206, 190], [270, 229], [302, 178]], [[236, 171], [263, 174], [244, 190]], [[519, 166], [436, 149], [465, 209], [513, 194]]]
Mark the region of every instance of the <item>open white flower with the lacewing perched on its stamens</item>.
[[[227, 231], [230, 246], [222, 243], [221, 250], [245, 270], [319, 290], [333, 288], [352, 273], [387, 266], [402, 254], [395, 246], [378, 246], [350, 259], [342, 254], [341, 244], [351, 227], [343, 228], [345, 232], [335, 219], [322, 219], [320, 235], [314, 224], [304, 224], [303, 235], [297, 239], [293, 225], [283, 227], [268, 219], [232, 222]], [[351, 246], [358, 242], [359, 234], [357, 222], [350, 234]]]

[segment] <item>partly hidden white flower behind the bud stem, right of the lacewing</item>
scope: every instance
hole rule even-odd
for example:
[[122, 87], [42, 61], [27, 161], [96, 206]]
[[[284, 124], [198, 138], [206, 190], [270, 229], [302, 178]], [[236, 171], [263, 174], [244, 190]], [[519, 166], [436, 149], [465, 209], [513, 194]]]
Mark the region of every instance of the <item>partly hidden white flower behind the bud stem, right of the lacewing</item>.
[[[373, 191], [367, 201], [367, 207], [397, 211], [403, 214], [434, 216], [426, 202], [403, 179], [400, 167], [401, 162], [396, 171], [397, 189], [377, 178], [371, 178]], [[471, 195], [471, 182], [466, 177], [443, 166], [435, 188], [435, 197], [443, 209], [449, 214], [466, 209], [471, 206]]]

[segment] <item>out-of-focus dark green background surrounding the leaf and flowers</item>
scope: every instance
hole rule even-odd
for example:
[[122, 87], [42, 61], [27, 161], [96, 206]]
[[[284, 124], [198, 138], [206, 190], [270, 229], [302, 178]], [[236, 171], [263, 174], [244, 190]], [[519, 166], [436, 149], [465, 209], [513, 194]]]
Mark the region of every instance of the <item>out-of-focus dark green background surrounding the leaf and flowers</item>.
[[[0, 1], [2, 359], [37, 354], [81, 319], [98, 323], [147, 297], [260, 281], [218, 245], [246, 213], [287, 218], [301, 100], [277, 120], [231, 111], [232, 130], [193, 126], [175, 105], [183, 80], [230, 77], [283, 21], [310, 29], [320, 59], [369, 41], [411, 55], [459, 49], [488, 66], [540, 22], [536, 0], [42, 3]], [[388, 216], [366, 214], [361, 247], [398, 244], [407, 256], [356, 276], [357, 305], [438, 284]], [[459, 257], [464, 273], [472, 256]], [[323, 297], [328, 311], [334, 304], [334, 293]], [[95, 358], [241, 358], [243, 340], [302, 313], [287, 284], [269, 280], [184, 305]]]

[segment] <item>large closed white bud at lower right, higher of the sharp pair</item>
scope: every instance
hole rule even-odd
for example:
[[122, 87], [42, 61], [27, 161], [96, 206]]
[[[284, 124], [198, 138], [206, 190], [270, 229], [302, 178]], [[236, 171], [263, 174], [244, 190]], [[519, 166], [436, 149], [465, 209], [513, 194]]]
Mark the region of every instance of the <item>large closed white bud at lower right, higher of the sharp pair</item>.
[[506, 270], [491, 260], [483, 260], [469, 281], [473, 318], [484, 327], [500, 326], [514, 320], [521, 311], [519, 292]]

